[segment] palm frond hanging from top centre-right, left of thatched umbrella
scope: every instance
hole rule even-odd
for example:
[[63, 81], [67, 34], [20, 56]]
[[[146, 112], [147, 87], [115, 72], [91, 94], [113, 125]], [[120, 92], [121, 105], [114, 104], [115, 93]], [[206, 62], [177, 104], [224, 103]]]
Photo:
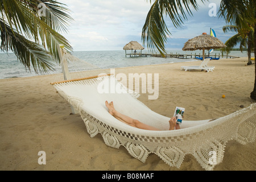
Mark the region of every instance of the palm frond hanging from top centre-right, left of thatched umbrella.
[[[202, 0], [204, 2], [204, 0]], [[150, 0], [151, 3], [151, 0]], [[195, 0], [156, 0], [152, 3], [142, 28], [143, 44], [147, 43], [149, 49], [158, 49], [163, 55], [164, 44], [171, 32], [168, 30], [164, 15], [168, 16], [175, 28], [181, 27], [187, 15], [192, 15], [191, 9], [198, 9]], [[163, 55], [164, 56], [164, 55]]]

